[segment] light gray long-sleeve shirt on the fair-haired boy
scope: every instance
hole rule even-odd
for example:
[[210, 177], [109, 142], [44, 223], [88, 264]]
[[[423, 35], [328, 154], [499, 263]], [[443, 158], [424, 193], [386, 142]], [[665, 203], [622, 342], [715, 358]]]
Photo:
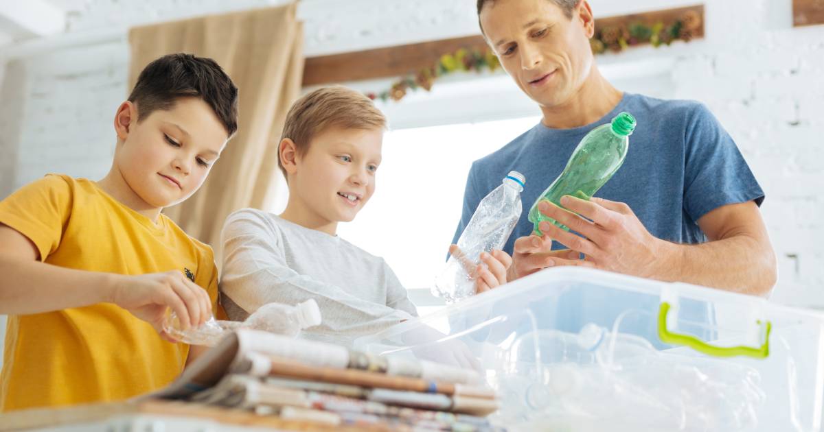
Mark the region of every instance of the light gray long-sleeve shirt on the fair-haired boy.
[[263, 304], [314, 299], [322, 323], [303, 331], [303, 337], [349, 346], [357, 337], [417, 316], [383, 258], [338, 236], [244, 209], [227, 218], [221, 241], [221, 301], [233, 320]]

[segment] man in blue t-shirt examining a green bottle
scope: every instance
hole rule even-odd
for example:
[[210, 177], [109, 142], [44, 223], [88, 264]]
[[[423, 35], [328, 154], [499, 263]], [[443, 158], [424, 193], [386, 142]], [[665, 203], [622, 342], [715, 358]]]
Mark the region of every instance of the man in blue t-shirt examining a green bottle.
[[[504, 250], [508, 280], [551, 266], [586, 266], [751, 295], [775, 285], [775, 253], [758, 206], [764, 193], [728, 133], [705, 106], [617, 90], [601, 73], [585, 0], [478, 0], [481, 31], [543, 118], [499, 151], [475, 161], [457, 237], [509, 170], [527, 177], [531, 205], [561, 173], [581, 138], [621, 111], [638, 121], [624, 165], [590, 201], [540, 210], [580, 235], [524, 209]], [[577, 213], [577, 214], [576, 214]], [[552, 240], [568, 249], [552, 249]], [[708, 241], [709, 240], [709, 241]], [[584, 259], [579, 259], [583, 253]]]

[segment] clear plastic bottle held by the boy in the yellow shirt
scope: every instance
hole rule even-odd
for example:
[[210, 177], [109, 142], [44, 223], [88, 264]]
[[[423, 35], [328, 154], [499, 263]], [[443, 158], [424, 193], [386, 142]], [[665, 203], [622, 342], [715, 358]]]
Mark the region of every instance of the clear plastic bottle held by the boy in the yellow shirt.
[[183, 330], [177, 314], [166, 315], [163, 330], [178, 341], [190, 345], [215, 346], [228, 333], [238, 328], [252, 328], [272, 332], [288, 337], [297, 337], [302, 329], [321, 323], [321, 309], [315, 300], [307, 300], [295, 306], [289, 304], [269, 303], [249, 315], [246, 321], [219, 321], [209, 318], [200, 327]]

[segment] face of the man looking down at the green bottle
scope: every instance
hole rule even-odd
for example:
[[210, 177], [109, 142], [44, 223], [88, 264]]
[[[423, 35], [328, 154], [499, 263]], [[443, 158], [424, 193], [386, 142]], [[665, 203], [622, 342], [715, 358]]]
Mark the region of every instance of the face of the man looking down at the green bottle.
[[592, 69], [592, 20], [580, 2], [570, 20], [551, 0], [495, 0], [480, 12], [487, 41], [532, 100], [552, 108], [578, 92]]

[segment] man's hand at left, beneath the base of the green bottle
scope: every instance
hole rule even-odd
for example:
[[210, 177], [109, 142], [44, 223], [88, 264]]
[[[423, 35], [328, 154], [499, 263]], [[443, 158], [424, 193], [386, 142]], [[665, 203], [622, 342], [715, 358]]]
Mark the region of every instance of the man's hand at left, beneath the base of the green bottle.
[[593, 267], [592, 262], [579, 259], [578, 252], [569, 249], [552, 250], [552, 239], [543, 235], [527, 235], [515, 240], [513, 265], [507, 272], [507, 280], [529, 276], [546, 267], [581, 266]]

